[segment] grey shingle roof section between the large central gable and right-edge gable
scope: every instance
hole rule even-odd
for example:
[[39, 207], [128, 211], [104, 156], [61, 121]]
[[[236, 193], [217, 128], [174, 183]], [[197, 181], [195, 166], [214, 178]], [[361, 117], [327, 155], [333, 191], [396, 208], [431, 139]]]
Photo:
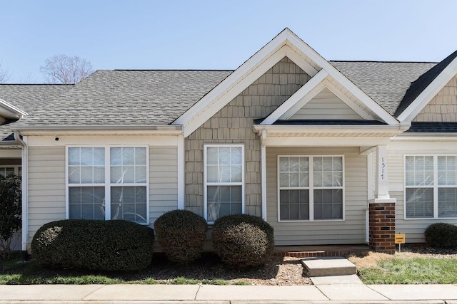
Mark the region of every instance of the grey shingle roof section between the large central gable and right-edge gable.
[[408, 89], [411, 88], [411, 83], [437, 65], [436, 63], [383, 61], [330, 61], [330, 63], [395, 117], [398, 116], [396, 113], [398, 106], [401, 103], [403, 105], [402, 100], [410, 91]]

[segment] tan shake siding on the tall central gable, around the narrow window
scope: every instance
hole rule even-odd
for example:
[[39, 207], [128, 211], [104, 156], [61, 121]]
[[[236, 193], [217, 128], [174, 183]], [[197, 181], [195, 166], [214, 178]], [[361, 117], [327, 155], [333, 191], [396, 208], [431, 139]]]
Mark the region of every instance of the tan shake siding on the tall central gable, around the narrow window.
[[269, 115], [309, 79], [285, 57], [186, 138], [186, 209], [204, 215], [204, 145], [243, 144], [245, 213], [261, 216], [261, 143], [253, 119]]

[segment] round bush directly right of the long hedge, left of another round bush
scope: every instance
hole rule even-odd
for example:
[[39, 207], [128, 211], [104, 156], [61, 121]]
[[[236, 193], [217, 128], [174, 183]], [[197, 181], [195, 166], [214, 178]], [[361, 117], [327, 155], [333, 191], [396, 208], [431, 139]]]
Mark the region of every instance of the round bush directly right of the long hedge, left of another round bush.
[[187, 210], [174, 210], [154, 223], [157, 240], [170, 261], [190, 263], [200, 257], [208, 224], [203, 217]]

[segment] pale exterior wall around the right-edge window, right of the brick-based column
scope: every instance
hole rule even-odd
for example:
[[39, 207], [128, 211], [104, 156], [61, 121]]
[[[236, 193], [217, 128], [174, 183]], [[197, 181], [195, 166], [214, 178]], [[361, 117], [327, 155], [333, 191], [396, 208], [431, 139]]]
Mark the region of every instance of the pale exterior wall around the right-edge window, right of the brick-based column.
[[388, 145], [388, 179], [391, 197], [396, 203], [396, 233], [406, 234], [406, 243], [423, 243], [427, 226], [438, 223], [457, 224], [457, 219], [405, 219], [404, 156], [421, 154], [457, 154], [457, 142], [393, 141]]

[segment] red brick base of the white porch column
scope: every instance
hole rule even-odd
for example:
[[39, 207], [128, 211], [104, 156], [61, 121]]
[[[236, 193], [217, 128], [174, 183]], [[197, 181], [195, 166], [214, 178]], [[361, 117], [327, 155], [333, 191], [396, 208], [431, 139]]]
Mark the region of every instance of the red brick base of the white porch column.
[[372, 251], [395, 253], [395, 202], [369, 204], [369, 245]]

